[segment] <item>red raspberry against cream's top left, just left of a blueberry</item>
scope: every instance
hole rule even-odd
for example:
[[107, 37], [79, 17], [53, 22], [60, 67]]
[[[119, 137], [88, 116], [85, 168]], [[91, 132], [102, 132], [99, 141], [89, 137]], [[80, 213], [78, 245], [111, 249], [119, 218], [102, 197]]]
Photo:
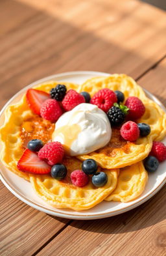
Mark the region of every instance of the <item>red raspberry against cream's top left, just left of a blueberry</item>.
[[64, 107], [65, 111], [69, 111], [78, 104], [85, 102], [86, 100], [84, 96], [71, 89], [67, 92], [67, 94], [65, 94], [64, 100], [62, 100], [62, 106]]

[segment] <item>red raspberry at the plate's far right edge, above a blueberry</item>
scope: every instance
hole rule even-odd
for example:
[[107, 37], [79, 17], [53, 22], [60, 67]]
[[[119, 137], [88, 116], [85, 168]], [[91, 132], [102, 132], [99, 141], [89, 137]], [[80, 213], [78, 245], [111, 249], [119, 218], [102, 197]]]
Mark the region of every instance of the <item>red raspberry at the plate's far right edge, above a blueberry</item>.
[[154, 141], [150, 155], [155, 156], [160, 162], [166, 160], [165, 145], [162, 142]]

